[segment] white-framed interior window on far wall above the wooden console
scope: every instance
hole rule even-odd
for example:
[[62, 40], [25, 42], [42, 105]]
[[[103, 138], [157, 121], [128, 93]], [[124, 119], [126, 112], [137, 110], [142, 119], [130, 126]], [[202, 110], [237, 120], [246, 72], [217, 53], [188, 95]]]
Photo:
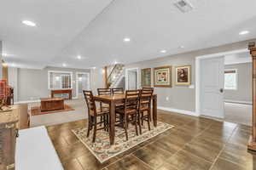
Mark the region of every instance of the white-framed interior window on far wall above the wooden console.
[[72, 88], [72, 72], [48, 71], [49, 89]]

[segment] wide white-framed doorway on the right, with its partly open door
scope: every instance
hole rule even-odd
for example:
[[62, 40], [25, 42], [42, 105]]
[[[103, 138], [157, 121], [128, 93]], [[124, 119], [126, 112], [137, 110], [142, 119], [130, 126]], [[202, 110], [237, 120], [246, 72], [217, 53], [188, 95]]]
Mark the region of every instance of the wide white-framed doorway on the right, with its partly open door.
[[252, 125], [252, 61], [247, 49], [196, 58], [196, 113]]

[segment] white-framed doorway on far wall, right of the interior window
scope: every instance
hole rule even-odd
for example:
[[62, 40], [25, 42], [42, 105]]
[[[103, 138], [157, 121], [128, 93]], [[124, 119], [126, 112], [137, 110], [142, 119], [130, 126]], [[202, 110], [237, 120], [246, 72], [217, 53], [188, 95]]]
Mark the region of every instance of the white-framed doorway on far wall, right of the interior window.
[[77, 72], [76, 73], [76, 98], [83, 98], [83, 90], [90, 89], [90, 73]]

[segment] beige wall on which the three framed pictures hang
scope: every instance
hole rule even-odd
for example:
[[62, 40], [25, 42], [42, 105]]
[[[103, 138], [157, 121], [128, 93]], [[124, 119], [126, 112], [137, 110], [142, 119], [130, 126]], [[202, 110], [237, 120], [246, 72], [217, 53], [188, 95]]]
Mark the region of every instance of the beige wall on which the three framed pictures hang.
[[[126, 65], [125, 68], [154, 68], [164, 65], [172, 65], [172, 72], [174, 66], [177, 65], [191, 65], [192, 84], [195, 85], [195, 57], [206, 54], [217, 54], [237, 49], [247, 48], [247, 42], [236, 42], [227, 44], [215, 48], [201, 49], [185, 54], [175, 54], [166, 56], [159, 59], [151, 59], [147, 61], [137, 62], [131, 65]], [[255, 41], [255, 40], [254, 40]], [[140, 84], [140, 72], [139, 72], [139, 84]], [[172, 82], [174, 82], [174, 74], [172, 74]], [[152, 84], [153, 84], [153, 70], [152, 70]], [[177, 87], [172, 88], [155, 88], [155, 92], [158, 94], [158, 105], [162, 107], [173, 108], [183, 111], [195, 111], [195, 88], [189, 87]], [[169, 100], [166, 100], [169, 98]]]

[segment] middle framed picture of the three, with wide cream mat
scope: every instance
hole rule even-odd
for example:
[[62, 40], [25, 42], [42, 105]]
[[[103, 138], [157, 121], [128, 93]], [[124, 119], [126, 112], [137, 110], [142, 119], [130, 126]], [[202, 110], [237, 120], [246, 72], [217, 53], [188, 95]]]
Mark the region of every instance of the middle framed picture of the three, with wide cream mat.
[[154, 87], [172, 87], [172, 66], [154, 68]]

